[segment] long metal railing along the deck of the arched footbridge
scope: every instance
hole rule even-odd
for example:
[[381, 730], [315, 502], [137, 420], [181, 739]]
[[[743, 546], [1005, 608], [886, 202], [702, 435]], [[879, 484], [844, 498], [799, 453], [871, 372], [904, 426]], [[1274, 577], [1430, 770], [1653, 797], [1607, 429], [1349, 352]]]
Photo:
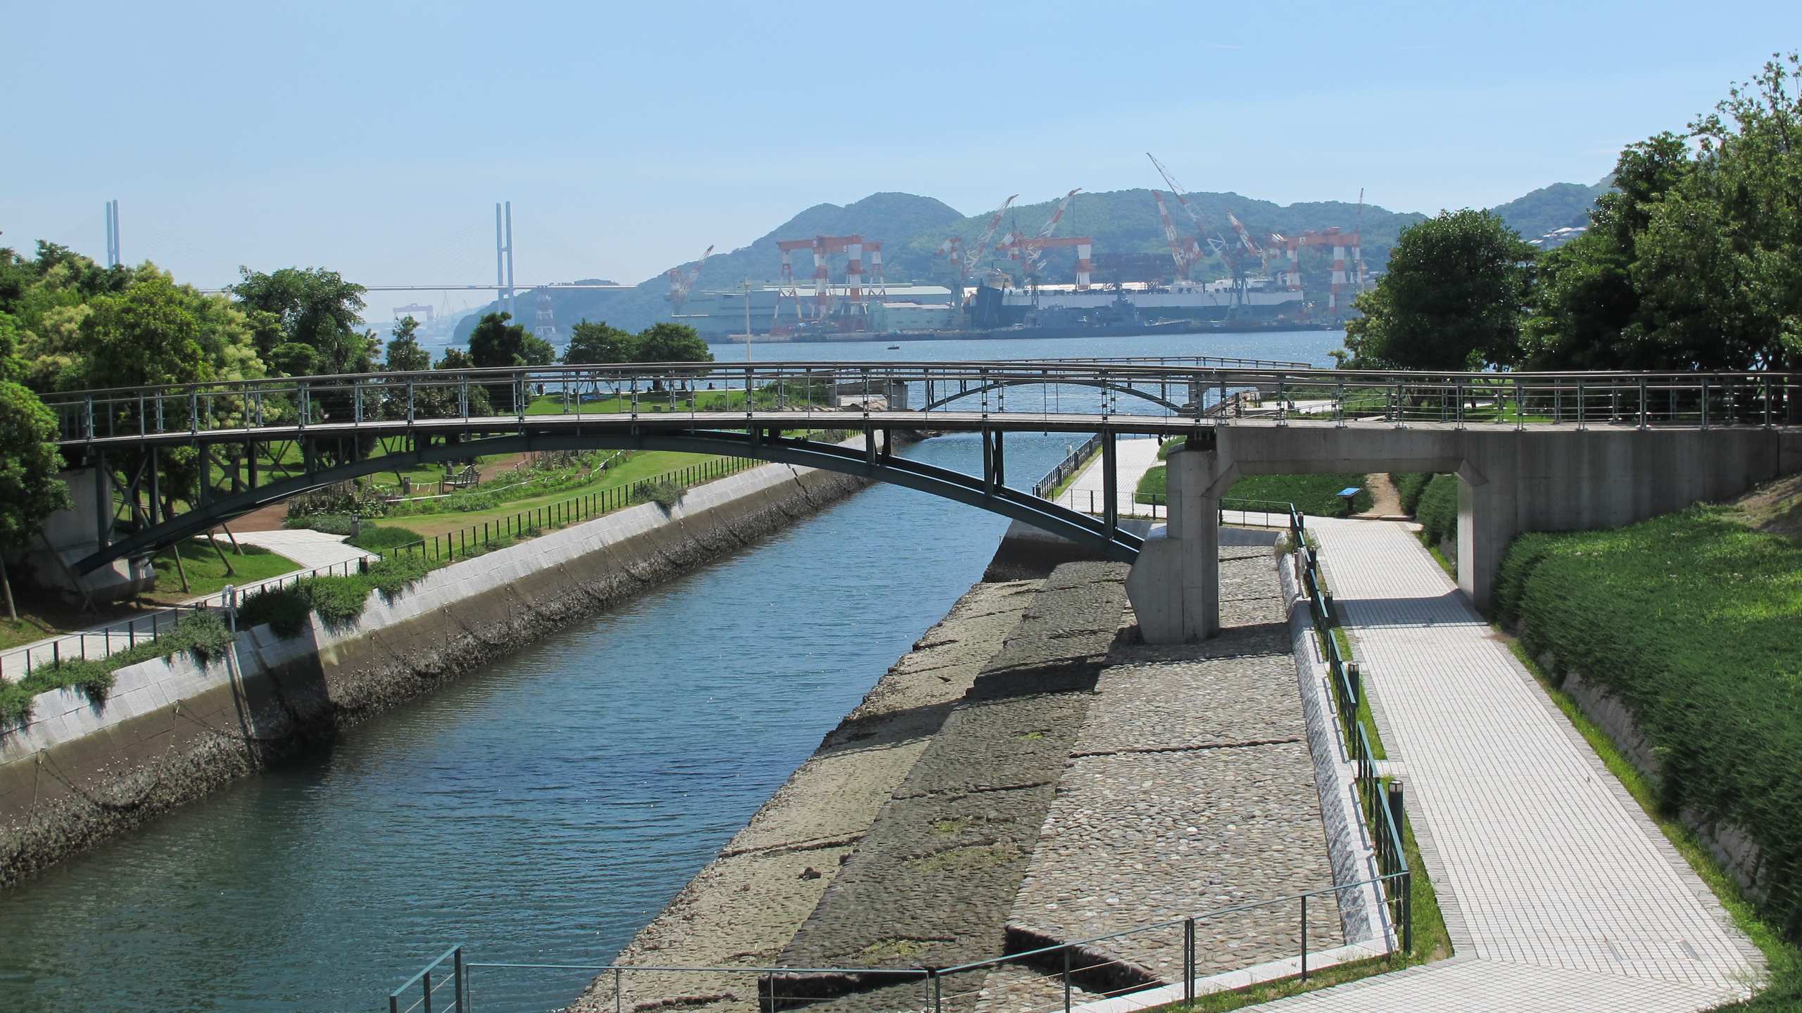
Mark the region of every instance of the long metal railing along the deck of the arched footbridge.
[[[861, 397], [860, 397], [861, 395]], [[712, 424], [771, 413], [843, 418], [881, 398], [930, 427], [935, 413], [1009, 418], [1240, 418], [1276, 424], [1452, 427], [1716, 427], [1802, 424], [1802, 380], [1788, 373], [1373, 373], [1283, 364], [1162, 360], [769, 362], [533, 366], [47, 395], [65, 443], [350, 427], [479, 427], [550, 416], [683, 418]], [[905, 404], [903, 404], [905, 402]], [[168, 442], [168, 440], [166, 440]]]

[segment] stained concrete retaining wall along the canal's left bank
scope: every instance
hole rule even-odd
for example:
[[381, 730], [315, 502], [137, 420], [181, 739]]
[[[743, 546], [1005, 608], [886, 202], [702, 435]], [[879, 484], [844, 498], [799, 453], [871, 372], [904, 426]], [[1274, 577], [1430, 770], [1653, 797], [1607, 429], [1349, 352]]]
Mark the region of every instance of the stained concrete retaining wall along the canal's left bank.
[[764, 465], [429, 573], [359, 622], [283, 640], [238, 634], [115, 672], [105, 705], [40, 694], [0, 732], [0, 887], [287, 757], [649, 584], [717, 559], [861, 488]]

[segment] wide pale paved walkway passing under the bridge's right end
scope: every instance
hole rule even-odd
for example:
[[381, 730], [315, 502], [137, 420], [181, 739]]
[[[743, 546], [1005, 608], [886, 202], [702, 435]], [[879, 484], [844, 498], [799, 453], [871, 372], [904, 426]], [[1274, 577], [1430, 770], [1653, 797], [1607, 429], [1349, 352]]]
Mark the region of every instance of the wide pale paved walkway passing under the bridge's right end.
[[1267, 1006], [1706, 1009], [1759, 952], [1402, 526], [1308, 519], [1456, 957]]

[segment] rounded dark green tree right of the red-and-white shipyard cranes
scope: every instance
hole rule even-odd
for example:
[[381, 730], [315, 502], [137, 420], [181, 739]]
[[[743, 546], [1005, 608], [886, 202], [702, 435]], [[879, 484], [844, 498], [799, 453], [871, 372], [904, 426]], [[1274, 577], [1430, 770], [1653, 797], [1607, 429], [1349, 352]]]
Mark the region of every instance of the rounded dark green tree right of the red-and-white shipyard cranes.
[[1402, 231], [1389, 269], [1346, 323], [1346, 364], [1481, 370], [1519, 355], [1534, 247], [1488, 211], [1445, 211]]

